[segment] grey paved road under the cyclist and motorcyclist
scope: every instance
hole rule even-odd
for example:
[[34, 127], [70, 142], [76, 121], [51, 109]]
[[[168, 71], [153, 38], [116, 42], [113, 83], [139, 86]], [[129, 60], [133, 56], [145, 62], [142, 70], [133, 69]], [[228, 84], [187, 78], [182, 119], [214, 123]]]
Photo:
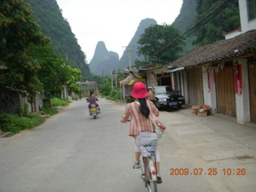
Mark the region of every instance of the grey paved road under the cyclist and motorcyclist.
[[[102, 114], [97, 119], [88, 115], [85, 100], [80, 100], [42, 126], [0, 138], [0, 192], [146, 191], [138, 170], [131, 168], [134, 146], [127, 135], [129, 125], [120, 123], [125, 105], [105, 99], [99, 105]], [[178, 139], [185, 130], [175, 136], [173, 127], [188, 126], [185, 115], [161, 111], [170, 130], [158, 147], [163, 180], [158, 191], [233, 191], [213, 176], [170, 175], [171, 168], [206, 168], [200, 155]]]

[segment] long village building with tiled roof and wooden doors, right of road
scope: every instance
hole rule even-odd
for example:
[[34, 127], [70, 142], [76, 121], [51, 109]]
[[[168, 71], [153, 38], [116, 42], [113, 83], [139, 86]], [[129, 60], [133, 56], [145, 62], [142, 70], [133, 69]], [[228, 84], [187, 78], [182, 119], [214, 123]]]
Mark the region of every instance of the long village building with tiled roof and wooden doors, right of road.
[[[256, 10], [239, 0], [241, 28], [199, 46], [168, 66], [141, 71], [147, 86], [171, 86], [190, 106], [256, 123]], [[251, 14], [254, 13], [254, 14]]]

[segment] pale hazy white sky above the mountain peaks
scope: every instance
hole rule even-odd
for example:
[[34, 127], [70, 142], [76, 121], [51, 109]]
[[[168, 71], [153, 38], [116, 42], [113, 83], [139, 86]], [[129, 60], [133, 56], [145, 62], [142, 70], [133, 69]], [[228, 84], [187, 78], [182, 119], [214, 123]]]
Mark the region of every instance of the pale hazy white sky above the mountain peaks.
[[99, 41], [119, 58], [144, 18], [171, 24], [182, 0], [57, 0], [89, 63]]

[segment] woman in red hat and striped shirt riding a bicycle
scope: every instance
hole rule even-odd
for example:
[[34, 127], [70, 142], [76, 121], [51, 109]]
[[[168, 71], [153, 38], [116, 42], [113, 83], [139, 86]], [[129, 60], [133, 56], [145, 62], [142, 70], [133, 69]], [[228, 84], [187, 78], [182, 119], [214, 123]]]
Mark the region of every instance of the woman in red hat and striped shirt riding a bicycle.
[[[121, 122], [127, 122], [130, 118], [130, 130], [129, 136], [133, 137], [136, 141], [138, 134], [140, 132], [154, 132], [154, 124], [150, 119], [150, 116], [158, 117], [159, 111], [154, 106], [153, 102], [147, 99], [148, 93], [146, 91], [146, 85], [142, 82], [134, 83], [133, 91], [131, 93], [132, 97], [136, 98], [135, 102], [128, 103], [126, 106], [126, 111], [122, 115]], [[139, 158], [141, 154], [141, 146], [138, 146], [135, 142], [135, 162], [134, 168], [138, 169]], [[160, 176], [160, 157], [158, 150], [155, 153], [155, 169], [157, 170], [158, 183], [162, 182]]]

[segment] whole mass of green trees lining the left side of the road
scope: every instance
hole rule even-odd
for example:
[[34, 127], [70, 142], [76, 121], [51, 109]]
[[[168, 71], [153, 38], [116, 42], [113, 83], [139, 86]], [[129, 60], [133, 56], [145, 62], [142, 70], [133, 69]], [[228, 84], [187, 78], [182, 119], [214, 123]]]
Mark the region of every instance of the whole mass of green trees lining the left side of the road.
[[42, 34], [34, 14], [22, 0], [3, 1], [0, 6], [0, 87], [26, 90], [33, 99], [43, 90], [46, 97], [61, 93], [62, 87], [78, 93], [81, 70], [74, 69], [54, 53], [50, 38]]

